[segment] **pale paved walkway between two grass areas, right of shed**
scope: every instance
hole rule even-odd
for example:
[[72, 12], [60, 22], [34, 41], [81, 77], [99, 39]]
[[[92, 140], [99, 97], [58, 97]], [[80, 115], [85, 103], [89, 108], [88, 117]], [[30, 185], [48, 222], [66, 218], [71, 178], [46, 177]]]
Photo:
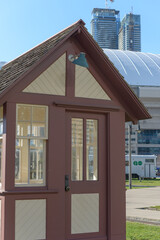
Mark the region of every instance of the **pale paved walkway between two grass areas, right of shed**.
[[126, 191], [126, 218], [131, 221], [160, 225], [160, 211], [145, 207], [160, 206], [160, 187], [132, 189]]

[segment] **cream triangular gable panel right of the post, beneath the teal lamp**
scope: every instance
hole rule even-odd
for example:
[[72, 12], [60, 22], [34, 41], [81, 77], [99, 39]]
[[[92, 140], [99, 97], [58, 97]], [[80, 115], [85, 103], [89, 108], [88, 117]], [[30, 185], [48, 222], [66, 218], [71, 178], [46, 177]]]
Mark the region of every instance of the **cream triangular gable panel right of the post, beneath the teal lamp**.
[[88, 69], [76, 65], [75, 96], [110, 100]]

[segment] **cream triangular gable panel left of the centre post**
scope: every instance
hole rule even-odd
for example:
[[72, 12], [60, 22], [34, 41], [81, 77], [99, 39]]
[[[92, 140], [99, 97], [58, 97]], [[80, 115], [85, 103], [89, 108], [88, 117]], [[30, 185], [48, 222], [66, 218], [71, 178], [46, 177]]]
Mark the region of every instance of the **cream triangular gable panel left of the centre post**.
[[65, 96], [66, 54], [63, 54], [23, 92]]

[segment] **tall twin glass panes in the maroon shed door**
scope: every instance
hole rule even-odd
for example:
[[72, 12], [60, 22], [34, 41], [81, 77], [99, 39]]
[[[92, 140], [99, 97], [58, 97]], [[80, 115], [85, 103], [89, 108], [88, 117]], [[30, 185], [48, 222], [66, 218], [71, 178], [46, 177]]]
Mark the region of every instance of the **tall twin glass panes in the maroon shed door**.
[[86, 180], [98, 180], [97, 141], [98, 120], [72, 118], [72, 181], [84, 180], [84, 166]]

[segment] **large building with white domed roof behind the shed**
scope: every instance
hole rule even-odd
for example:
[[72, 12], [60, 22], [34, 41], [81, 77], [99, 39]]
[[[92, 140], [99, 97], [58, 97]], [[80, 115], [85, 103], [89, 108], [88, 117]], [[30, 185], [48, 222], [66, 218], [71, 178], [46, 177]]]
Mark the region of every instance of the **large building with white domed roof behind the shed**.
[[[132, 154], [155, 154], [160, 165], [160, 54], [107, 49], [105, 53], [152, 116], [139, 121], [139, 127], [132, 125]], [[125, 131], [128, 154], [127, 124]]]

